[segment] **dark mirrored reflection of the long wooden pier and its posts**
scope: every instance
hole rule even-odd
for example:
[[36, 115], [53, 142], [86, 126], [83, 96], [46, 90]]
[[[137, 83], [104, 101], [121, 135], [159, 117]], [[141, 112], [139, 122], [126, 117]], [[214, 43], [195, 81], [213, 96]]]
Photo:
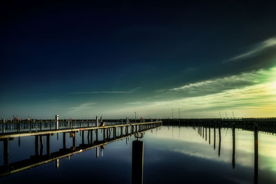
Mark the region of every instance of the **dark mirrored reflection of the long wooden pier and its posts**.
[[[30, 159], [26, 159], [23, 161], [17, 161], [15, 163], [8, 163], [8, 141], [13, 140], [14, 138], [5, 138], [1, 139], [3, 141], [3, 157], [4, 157], [4, 165], [0, 166], [0, 176], [6, 176], [9, 174], [13, 174], [16, 172], [20, 172], [23, 170], [30, 169], [31, 167], [36, 167], [38, 165], [42, 165], [45, 163], [49, 163], [51, 161], [56, 162], [56, 167], [59, 167], [59, 159], [62, 158], [68, 158], [70, 159], [70, 156], [84, 152], [86, 150], [91, 150], [93, 148], [96, 148], [96, 156], [99, 156], [99, 147], [101, 147], [101, 153], [103, 153], [103, 149], [106, 144], [112, 143], [115, 141], [119, 141], [124, 138], [128, 138], [129, 136], [132, 136], [135, 132], [144, 132], [146, 130], [150, 130], [155, 127], [159, 127], [161, 125], [161, 122], [157, 123], [137, 123], [135, 125], [128, 125], [125, 126], [125, 131], [123, 131], [123, 127], [119, 125], [115, 126], [106, 126], [101, 127], [103, 129], [103, 134], [101, 137], [103, 139], [99, 141], [98, 138], [98, 129], [88, 129], [88, 130], [79, 130], [81, 133], [81, 144], [79, 146], [76, 146], [75, 141], [75, 132], [77, 131], [70, 131], [70, 137], [72, 138], [72, 147], [66, 148], [66, 132], [63, 132], [63, 148], [60, 149], [58, 152], [50, 152], [50, 136], [52, 134], [36, 134], [34, 136], [34, 149], [35, 154], [33, 156], [30, 156]], [[117, 127], [121, 127], [121, 131], [117, 131]], [[131, 128], [130, 130], [128, 130]], [[92, 131], [95, 130], [95, 141], [93, 141]], [[59, 130], [60, 131], [60, 130]], [[84, 131], [88, 132], [87, 140], [88, 143], [84, 143]], [[113, 136], [111, 137], [111, 131], [113, 131]], [[130, 132], [129, 132], [130, 131]], [[119, 132], [119, 136], [117, 133]], [[35, 133], [35, 132], [32, 132]], [[43, 136], [46, 136], [46, 149], [47, 154], [42, 155], [43, 153]], [[40, 141], [39, 141], [40, 140]], [[39, 154], [39, 143], [40, 143], [40, 154]]]

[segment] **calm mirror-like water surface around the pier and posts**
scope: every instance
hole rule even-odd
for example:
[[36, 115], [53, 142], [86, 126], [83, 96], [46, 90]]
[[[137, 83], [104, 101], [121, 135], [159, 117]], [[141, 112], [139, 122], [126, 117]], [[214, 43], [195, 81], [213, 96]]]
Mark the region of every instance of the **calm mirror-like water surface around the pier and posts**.
[[[200, 136], [193, 127], [163, 126], [148, 130], [140, 139], [144, 143], [144, 183], [276, 183], [276, 136], [259, 132], [258, 173], [255, 176], [254, 134], [235, 130], [235, 156], [233, 161], [232, 129], [221, 128], [219, 156], [219, 131], [204, 131]], [[88, 142], [87, 134], [84, 135]], [[82, 136], [76, 134], [76, 146]], [[210, 140], [210, 141], [209, 141]], [[59, 159], [59, 167], [52, 161], [28, 170], [0, 178], [0, 183], [131, 183], [132, 141], [123, 139], [79, 152], [69, 158]], [[46, 154], [46, 139], [43, 139]], [[215, 143], [215, 146], [214, 146]], [[0, 142], [0, 165], [3, 165], [3, 141]], [[50, 136], [50, 152], [63, 147], [63, 134]], [[72, 147], [72, 138], [66, 134], [66, 147]], [[39, 149], [40, 150], [40, 149]], [[35, 154], [34, 136], [9, 141], [9, 163], [29, 159]], [[235, 163], [234, 163], [235, 162]]]

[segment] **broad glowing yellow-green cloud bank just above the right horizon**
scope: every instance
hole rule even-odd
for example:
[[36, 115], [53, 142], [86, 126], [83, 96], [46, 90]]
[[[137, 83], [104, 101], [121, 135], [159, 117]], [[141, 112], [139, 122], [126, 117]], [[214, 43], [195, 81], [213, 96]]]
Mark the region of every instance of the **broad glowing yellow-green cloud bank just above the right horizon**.
[[199, 81], [167, 91], [156, 101], [137, 101], [110, 114], [137, 112], [164, 118], [172, 116], [173, 108], [180, 108], [182, 118], [219, 117], [221, 110], [234, 111], [235, 116], [275, 116], [276, 68]]

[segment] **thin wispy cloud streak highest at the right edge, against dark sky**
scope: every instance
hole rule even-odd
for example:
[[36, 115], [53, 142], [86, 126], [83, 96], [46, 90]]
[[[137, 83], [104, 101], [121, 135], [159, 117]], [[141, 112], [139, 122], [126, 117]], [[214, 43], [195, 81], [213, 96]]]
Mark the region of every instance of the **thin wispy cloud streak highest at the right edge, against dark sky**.
[[262, 52], [263, 50], [266, 50], [267, 48], [272, 48], [276, 46], [276, 37], [267, 39], [266, 41], [262, 41], [262, 43], [257, 44], [253, 49], [248, 50], [248, 52], [239, 54], [231, 59], [228, 59], [224, 61], [224, 63], [238, 61], [240, 59], [244, 59], [246, 57], [252, 57], [255, 54], [258, 54], [258, 52]]

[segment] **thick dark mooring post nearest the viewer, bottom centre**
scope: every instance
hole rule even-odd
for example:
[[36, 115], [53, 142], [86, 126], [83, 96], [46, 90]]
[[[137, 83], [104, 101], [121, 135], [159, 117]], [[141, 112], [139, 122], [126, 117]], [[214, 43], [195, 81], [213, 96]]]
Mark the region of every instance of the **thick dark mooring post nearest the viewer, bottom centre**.
[[132, 142], [132, 184], [143, 183], [144, 143]]

